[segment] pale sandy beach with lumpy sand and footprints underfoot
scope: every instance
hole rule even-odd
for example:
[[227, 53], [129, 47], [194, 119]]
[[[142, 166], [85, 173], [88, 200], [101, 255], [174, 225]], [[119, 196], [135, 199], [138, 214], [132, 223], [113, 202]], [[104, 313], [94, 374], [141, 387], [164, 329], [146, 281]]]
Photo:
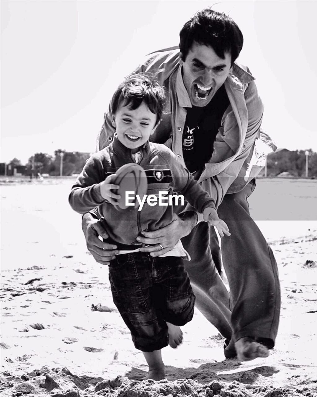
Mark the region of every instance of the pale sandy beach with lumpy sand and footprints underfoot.
[[[136, 380], [147, 367], [112, 302], [108, 268], [87, 252], [67, 202], [72, 182], [1, 185], [3, 396], [317, 395], [317, 181], [259, 180], [249, 200], [279, 265], [270, 356], [225, 360], [223, 338], [196, 310], [183, 344], [163, 350], [167, 379], [159, 382]], [[91, 310], [99, 303], [108, 311]]]

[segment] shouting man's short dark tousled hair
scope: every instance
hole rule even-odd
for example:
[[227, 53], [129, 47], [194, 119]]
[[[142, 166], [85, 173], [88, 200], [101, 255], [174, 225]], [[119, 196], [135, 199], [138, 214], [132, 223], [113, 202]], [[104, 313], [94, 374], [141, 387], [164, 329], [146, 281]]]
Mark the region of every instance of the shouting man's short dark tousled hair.
[[243, 45], [243, 36], [238, 25], [225, 13], [205, 8], [198, 11], [185, 23], [179, 33], [179, 48], [185, 61], [193, 42], [212, 47], [217, 56], [225, 59], [225, 52], [231, 54], [231, 66], [238, 58]]

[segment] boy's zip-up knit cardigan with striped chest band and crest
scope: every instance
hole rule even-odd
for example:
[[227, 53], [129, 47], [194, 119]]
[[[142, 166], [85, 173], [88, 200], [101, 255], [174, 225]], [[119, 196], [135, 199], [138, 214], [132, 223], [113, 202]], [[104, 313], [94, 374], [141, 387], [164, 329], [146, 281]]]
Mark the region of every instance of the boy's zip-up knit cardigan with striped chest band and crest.
[[[159, 191], [167, 195], [176, 192], [200, 213], [206, 207], [215, 208], [214, 200], [202, 189], [176, 159], [175, 154], [165, 145], [145, 143], [141, 148], [142, 156], [139, 162], [144, 168], [148, 182], [148, 195], [158, 196]], [[83, 171], [77, 177], [69, 195], [71, 207], [85, 214], [96, 206], [106, 219], [106, 231], [113, 241], [123, 244], [137, 243], [136, 237], [141, 231], [160, 229], [173, 220], [173, 206], [150, 206], [144, 203], [142, 210], [133, 206], [121, 209], [105, 201], [100, 195], [100, 182], [121, 166], [134, 162], [131, 149], [124, 146], [115, 136], [113, 142], [87, 160]], [[142, 198], [141, 198], [142, 199]], [[164, 203], [168, 204], [168, 200]]]

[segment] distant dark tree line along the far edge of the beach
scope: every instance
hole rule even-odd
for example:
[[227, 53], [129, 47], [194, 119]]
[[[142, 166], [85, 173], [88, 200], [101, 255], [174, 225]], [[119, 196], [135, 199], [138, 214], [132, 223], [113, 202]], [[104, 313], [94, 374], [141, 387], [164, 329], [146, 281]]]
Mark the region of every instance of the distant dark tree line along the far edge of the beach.
[[[308, 176], [317, 178], [317, 153], [311, 149], [308, 152]], [[7, 175], [13, 175], [14, 169], [15, 173], [22, 175], [35, 176], [37, 173], [60, 175], [61, 153], [63, 153], [63, 175], [65, 176], [80, 173], [90, 157], [90, 153], [66, 152], [61, 149], [55, 150], [54, 156], [47, 153], [35, 153], [34, 158], [31, 156], [25, 165], [22, 165], [17, 158], [13, 158], [7, 164]], [[267, 176], [275, 177], [282, 172], [288, 172], [293, 177], [305, 177], [305, 164], [305, 150], [277, 150], [267, 156]], [[4, 175], [4, 163], [0, 164], [0, 175]], [[264, 169], [260, 175], [264, 175]]]

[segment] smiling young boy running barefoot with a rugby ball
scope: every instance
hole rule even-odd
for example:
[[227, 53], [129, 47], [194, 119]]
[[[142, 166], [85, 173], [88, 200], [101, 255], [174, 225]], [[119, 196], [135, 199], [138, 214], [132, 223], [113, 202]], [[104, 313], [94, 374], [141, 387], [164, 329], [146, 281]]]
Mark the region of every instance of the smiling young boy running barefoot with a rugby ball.
[[156, 258], [139, 251], [142, 244], [136, 237], [141, 231], [170, 224], [173, 206], [145, 202], [141, 211], [131, 206], [119, 208], [115, 172], [124, 164], [139, 164], [147, 176], [148, 194], [178, 192], [203, 213], [204, 221], [209, 219], [222, 235], [230, 235], [227, 225], [219, 222], [214, 201], [175, 154], [164, 145], [149, 142], [164, 106], [164, 90], [158, 83], [143, 74], [128, 77], [111, 103], [116, 129], [113, 142], [86, 162], [69, 195], [75, 211], [85, 214], [98, 206], [106, 219], [109, 241], [119, 250], [109, 266], [113, 302], [131, 331], [136, 349], [146, 358], [149, 372], [144, 379], [154, 380], [165, 378], [161, 349], [169, 343], [168, 327], [184, 325], [194, 314], [195, 297], [182, 259], [187, 252], [181, 241], [173, 251]]

